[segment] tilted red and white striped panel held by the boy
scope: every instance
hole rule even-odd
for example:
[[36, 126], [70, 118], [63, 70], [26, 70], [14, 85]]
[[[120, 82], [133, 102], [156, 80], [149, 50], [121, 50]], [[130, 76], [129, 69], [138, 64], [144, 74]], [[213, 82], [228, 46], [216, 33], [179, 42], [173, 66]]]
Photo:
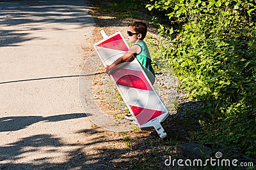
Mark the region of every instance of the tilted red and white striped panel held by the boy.
[[[105, 67], [129, 50], [120, 32], [96, 43], [94, 47]], [[116, 66], [110, 76], [140, 128], [159, 127], [160, 122], [168, 117], [168, 110], [138, 60]]]

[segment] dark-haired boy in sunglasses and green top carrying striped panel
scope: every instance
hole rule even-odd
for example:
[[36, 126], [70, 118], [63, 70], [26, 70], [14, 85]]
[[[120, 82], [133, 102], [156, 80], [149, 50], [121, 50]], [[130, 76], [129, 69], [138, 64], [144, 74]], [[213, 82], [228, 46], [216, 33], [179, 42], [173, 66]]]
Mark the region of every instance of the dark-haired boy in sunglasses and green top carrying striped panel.
[[[147, 35], [147, 25], [142, 21], [131, 22], [127, 27], [127, 34], [129, 39], [128, 41], [134, 43], [134, 45], [132, 45], [129, 51], [122, 57], [119, 57], [110, 66], [106, 67], [106, 73], [110, 73], [111, 69], [118, 64], [122, 64], [123, 62], [131, 62], [136, 58], [153, 85], [156, 76], [151, 65], [152, 60], [150, 53], [148, 52], [146, 43], [143, 41]], [[125, 118], [128, 120], [133, 120], [131, 115], [127, 115]]]

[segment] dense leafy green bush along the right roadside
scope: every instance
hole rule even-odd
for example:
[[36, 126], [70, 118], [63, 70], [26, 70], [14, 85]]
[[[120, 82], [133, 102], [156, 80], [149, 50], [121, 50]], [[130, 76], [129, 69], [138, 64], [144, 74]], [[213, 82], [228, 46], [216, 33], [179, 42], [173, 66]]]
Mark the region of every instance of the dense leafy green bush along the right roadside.
[[154, 17], [182, 89], [204, 101], [198, 139], [255, 156], [255, 0], [159, 0], [147, 8], [168, 20]]

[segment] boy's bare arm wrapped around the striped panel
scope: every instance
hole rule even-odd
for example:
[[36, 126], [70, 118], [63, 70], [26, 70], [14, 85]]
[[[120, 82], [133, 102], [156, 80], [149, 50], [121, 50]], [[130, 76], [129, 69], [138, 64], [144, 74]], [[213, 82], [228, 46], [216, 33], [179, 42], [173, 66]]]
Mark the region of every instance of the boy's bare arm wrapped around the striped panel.
[[119, 57], [118, 59], [115, 60], [110, 66], [106, 67], [106, 73], [108, 74], [111, 69], [113, 69], [115, 66], [118, 64], [121, 64], [123, 62], [132, 62], [134, 60], [134, 54], [138, 53], [138, 45], [134, 45], [130, 48], [130, 50], [125, 53], [122, 57]]

